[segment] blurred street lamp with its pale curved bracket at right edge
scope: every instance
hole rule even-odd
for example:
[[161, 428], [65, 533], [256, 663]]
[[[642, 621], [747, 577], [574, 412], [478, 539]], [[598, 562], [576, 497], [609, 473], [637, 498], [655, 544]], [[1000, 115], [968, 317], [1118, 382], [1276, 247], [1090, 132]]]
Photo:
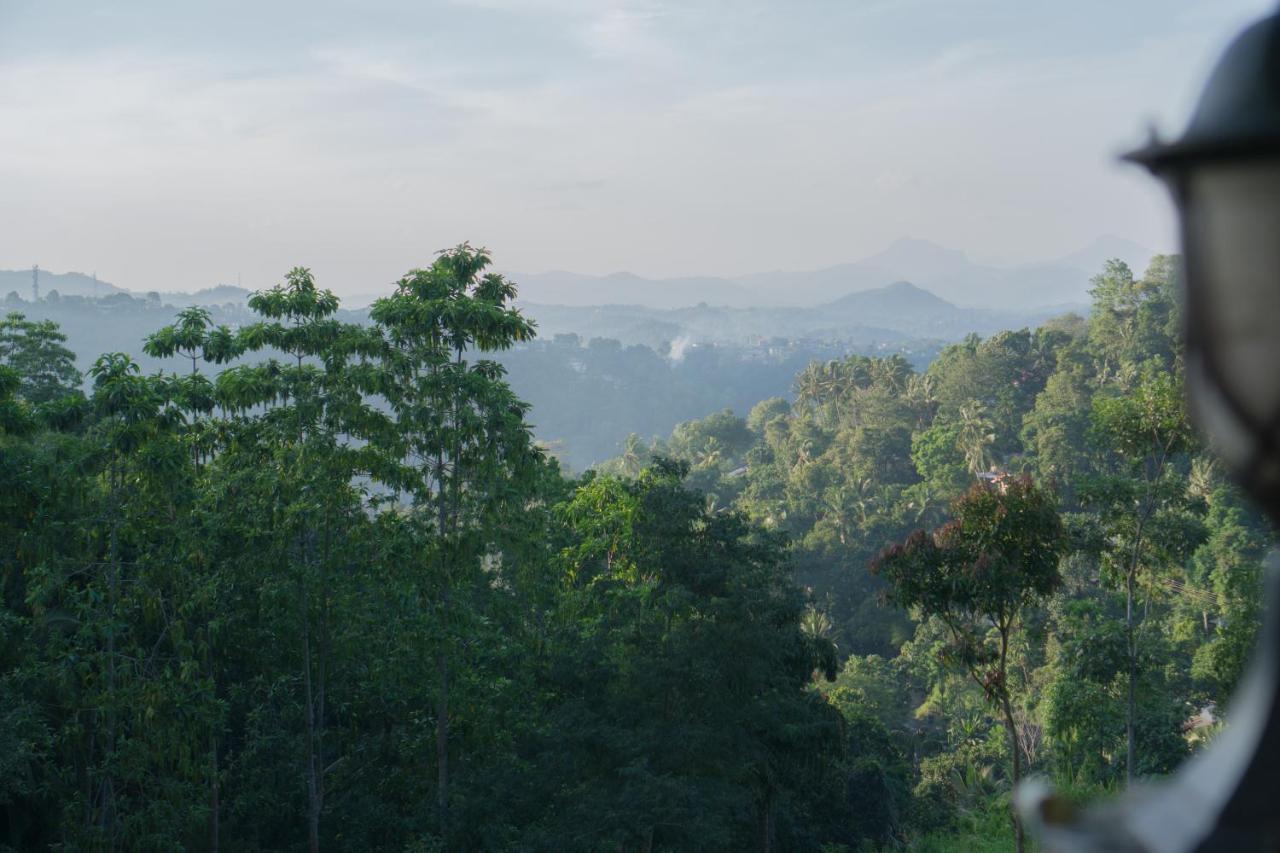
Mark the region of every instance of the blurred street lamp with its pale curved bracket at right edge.
[[[1192, 412], [1280, 525], [1280, 13], [1219, 60], [1183, 137], [1126, 155], [1171, 190], [1181, 222]], [[1226, 730], [1170, 780], [1074, 812], [1018, 793], [1047, 850], [1280, 850], [1280, 560]]]

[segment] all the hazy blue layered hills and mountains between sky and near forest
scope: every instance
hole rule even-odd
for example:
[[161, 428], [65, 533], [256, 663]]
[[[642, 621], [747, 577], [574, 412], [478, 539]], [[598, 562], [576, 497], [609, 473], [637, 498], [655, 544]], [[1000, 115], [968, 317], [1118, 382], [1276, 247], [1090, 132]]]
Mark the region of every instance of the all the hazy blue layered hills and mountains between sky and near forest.
[[[1082, 302], [1091, 275], [1082, 265], [1103, 248], [1144, 254], [1100, 241], [1061, 261], [1000, 270], [924, 241], [900, 241], [856, 264], [748, 277], [746, 284], [521, 277], [517, 305], [538, 324], [539, 339], [498, 357], [531, 403], [538, 437], [582, 470], [620, 452], [631, 432], [663, 435], [684, 420], [724, 407], [745, 414], [758, 400], [786, 394], [791, 377], [814, 359], [896, 352], [923, 368], [942, 343], [966, 334], [1038, 325], [1064, 311], [1046, 306], [1066, 298], [1055, 280], [1073, 282], [1075, 302]], [[1021, 296], [1006, 304], [1001, 288], [1010, 277]], [[128, 352], [148, 371], [164, 366], [141, 345], [174, 307], [205, 306], [214, 321], [233, 328], [252, 321], [250, 292], [234, 286], [131, 293], [97, 277], [46, 270], [38, 272], [38, 282], [35, 301], [32, 270], [0, 272], [0, 293], [6, 295], [0, 309], [56, 321], [82, 371], [93, 353], [111, 351]], [[982, 296], [965, 304], [987, 307], [959, 307], [922, 282]], [[367, 323], [369, 298], [353, 300], [356, 307], [339, 316]], [[778, 298], [794, 304], [762, 307]], [[1042, 307], [1009, 307], [1023, 304]]]

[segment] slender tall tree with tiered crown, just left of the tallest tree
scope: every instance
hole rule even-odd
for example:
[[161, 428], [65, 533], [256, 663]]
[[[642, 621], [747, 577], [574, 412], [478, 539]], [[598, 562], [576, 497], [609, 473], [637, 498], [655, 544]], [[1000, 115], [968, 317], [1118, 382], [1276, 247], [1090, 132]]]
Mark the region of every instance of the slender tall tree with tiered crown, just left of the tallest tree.
[[[237, 450], [229, 464], [250, 465], [266, 503], [265, 549], [256, 555], [275, 565], [270, 587], [273, 605], [296, 628], [296, 683], [301, 689], [302, 754], [306, 783], [306, 825], [312, 853], [320, 849], [326, 776], [333, 766], [326, 743], [330, 710], [335, 704], [330, 675], [346, 649], [330, 602], [335, 584], [349, 576], [353, 525], [362, 519], [355, 478], [367, 474], [369, 453], [351, 442], [367, 442], [381, 423], [364, 398], [352, 359], [369, 346], [365, 330], [338, 321], [337, 297], [316, 287], [310, 270], [296, 268], [285, 282], [255, 293], [250, 307], [262, 319], [239, 330], [237, 351], [271, 350], [288, 360], [269, 359], [242, 365], [218, 378], [218, 400], [230, 411], [255, 411], [237, 430]], [[192, 359], [218, 351], [210, 345], [204, 318], [191, 313], [175, 332], [161, 330], [151, 341], [156, 350]], [[207, 357], [207, 356], [206, 356]], [[261, 494], [261, 492], [260, 492]], [[348, 647], [349, 648], [349, 647]]]

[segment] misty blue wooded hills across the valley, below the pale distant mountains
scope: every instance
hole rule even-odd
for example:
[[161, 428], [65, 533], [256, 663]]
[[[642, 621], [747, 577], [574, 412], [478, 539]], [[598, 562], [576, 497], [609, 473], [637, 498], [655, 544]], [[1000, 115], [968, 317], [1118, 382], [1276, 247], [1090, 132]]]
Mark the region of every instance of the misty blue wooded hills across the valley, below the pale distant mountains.
[[[56, 323], [76, 353], [76, 366], [90, 379], [88, 370], [102, 352], [125, 352], [145, 373], [169, 368], [164, 359], [145, 352], [142, 345], [195, 298], [182, 296], [114, 293], [95, 300], [46, 293], [33, 302], [14, 292], [0, 302], [0, 311], [22, 314], [29, 321]], [[218, 292], [196, 296], [211, 300]], [[216, 325], [234, 329], [255, 319], [242, 300], [202, 305]], [[856, 306], [850, 307], [854, 310], [846, 311], [846, 318], [854, 323]], [[524, 309], [521, 313], [530, 316]], [[931, 330], [938, 337], [913, 338], [887, 330], [849, 337], [847, 327], [819, 337], [790, 337], [780, 325], [777, 334], [750, 341], [735, 334], [732, 342], [724, 337], [719, 342], [694, 342], [681, 337], [686, 334], [682, 327], [659, 325], [649, 329], [652, 334], [640, 336], [649, 343], [637, 343], [628, 332], [648, 328], [650, 314], [634, 306], [590, 311], [539, 306], [536, 316], [530, 316], [538, 323], [539, 337], [493, 353], [509, 371], [512, 388], [530, 405], [527, 420], [534, 435], [567, 467], [584, 471], [617, 455], [631, 432], [650, 438], [664, 435], [684, 420], [726, 406], [745, 414], [759, 400], [787, 393], [791, 378], [810, 360], [850, 352], [896, 352], [924, 366], [943, 341], [956, 339], [957, 330], [969, 328], [951, 318], [943, 328]], [[710, 309], [707, 314], [716, 325], [723, 310]], [[900, 323], [908, 323], [899, 316]], [[366, 309], [339, 307], [334, 318], [360, 325], [370, 321]], [[919, 324], [929, 330], [928, 318]], [[262, 355], [236, 356], [228, 364], [257, 357]]]

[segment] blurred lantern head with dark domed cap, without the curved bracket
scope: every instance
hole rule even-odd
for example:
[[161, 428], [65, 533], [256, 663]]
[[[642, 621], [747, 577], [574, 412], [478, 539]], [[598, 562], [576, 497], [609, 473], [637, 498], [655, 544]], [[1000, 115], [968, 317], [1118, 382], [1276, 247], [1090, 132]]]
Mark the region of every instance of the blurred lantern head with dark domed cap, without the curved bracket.
[[1183, 138], [1125, 159], [1178, 204], [1192, 410], [1280, 523], [1280, 15], [1231, 44]]

